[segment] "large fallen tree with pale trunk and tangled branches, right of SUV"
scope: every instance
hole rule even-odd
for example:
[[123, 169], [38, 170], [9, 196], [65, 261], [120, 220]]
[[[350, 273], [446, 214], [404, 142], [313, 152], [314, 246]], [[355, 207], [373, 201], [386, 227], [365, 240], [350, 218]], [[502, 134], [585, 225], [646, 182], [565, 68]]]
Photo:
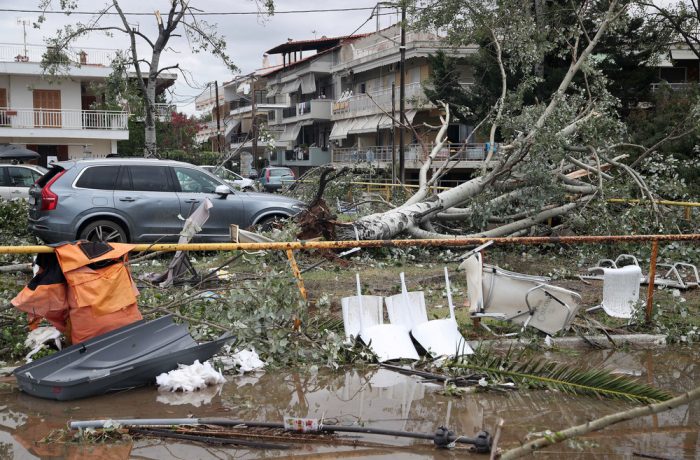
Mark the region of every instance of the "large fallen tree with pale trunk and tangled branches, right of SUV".
[[[400, 206], [342, 226], [341, 238], [521, 235], [550, 218], [604, 202], [607, 187], [622, 178], [634, 184], [637, 196], [650, 200], [652, 214], [658, 212], [652, 191], [632, 165], [669, 140], [697, 134], [700, 103], [693, 100], [654, 145], [631, 142], [619, 115], [620, 99], [600, 69], [605, 56], [597, 54], [606, 34], [630, 20], [630, 2], [426, 0], [418, 6], [417, 27], [446, 30], [455, 45], [479, 43], [480, 52], [493, 60], [499, 91], [475, 128], [486, 133], [490, 151], [474, 177], [434, 193], [431, 187], [455, 165], [445, 161], [436, 167], [451, 117], [451, 101], [439, 103], [442, 123], [432, 147], [424, 147], [417, 193]], [[527, 98], [543, 81], [542, 63], [552, 54], [567, 64], [561, 77], [546, 97]], [[470, 233], [463, 231], [469, 225], [454, 225], [484, 210], [491, 211], [495, 228]]]

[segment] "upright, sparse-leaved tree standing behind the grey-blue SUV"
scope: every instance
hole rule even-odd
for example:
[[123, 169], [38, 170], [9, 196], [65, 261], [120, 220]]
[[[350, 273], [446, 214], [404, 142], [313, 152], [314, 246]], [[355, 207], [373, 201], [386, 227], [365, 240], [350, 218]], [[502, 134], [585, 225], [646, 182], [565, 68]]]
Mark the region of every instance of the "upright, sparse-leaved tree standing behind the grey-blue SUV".
[[[80, 5], [79, 1], [65, 0], [41, 0], [40, 7], [46, 11], [48, 8], [58, 3], [58, 7], [70, 14]], [[94, 16], [86, 22], [78, 22], [74, 25], [67, 25], [56, 32], [54, 37], [47, 40], [51, 55], [60, 57], [75, 40], [92, 33], [123, 34], [128, 39], [128, 61], [136, 74], [136, 81], [140, 90], [140, 96], [144, 108], [145, 124], [145, 151], [144, 156], [157, 156], [156, 153], [156, 87], [158, 78], [167, 71], [183, 71], [179, 64], [161, 66], [161, 56], [168, 49], [169, 42], [173, 37], [186, 36], [195, 52], [205, 51], [219, 57], [224, 64], [235, 71], [226, 53], [226, 41], [216, 31], [216, 26], [197, 17], [200, 11], [190, 0], [169, 0], [162, 2], [167, 11], [161, 13], [155, 10], [153, 20], [157, 24], [158, 34], [149, 37], [139, 30], [138, 25], [132, 24], [127, 19], [118, 0], [110, 0], [100, 8]], [[92, 5], [91, 5], [92, 6]], [[153, 5], [156, 7], [156, 5]], [[119, 21], [109, 22], [107, 19], [116, 13]], [[45, 21], [42, 15], [39, 23]], [[139, 54], [138, 45], [145, 44], [150, 51], [150, 55]], [[66, 65], [62, 59], [44, 59], [45, 70], [56, 74], [61, 72], [61, 67]]]

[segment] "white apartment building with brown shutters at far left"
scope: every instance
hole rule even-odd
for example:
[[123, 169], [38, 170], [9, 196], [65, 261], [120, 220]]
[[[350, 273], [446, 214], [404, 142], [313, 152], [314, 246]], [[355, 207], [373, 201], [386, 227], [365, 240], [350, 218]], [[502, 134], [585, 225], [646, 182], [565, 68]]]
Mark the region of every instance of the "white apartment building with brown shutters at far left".
[[[41, 69], [42, 45], [0, 44], [0, 144], [21, 145], [51, 160], [101, 158], [129, 138], [127, 110], [96, 110], [93, 83], [112, 72], [114, 50], [73, 48], [60, 77]], [[163, 91], [174, 74], [160, 79]]]

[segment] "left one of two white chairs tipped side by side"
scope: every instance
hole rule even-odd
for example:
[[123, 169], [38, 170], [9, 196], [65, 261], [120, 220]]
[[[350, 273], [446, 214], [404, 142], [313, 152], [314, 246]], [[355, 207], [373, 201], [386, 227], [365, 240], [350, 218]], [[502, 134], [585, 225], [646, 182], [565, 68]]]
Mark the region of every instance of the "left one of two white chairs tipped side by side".
[[355, 275], [355, 280], [357, 295], [341, 299], [345, 337], [361, 339], [380, 363], [395, 359], [418, 360], [408, 329], [398, 324], [384, 324], [384, 298], [362, 295], [360, 275]]

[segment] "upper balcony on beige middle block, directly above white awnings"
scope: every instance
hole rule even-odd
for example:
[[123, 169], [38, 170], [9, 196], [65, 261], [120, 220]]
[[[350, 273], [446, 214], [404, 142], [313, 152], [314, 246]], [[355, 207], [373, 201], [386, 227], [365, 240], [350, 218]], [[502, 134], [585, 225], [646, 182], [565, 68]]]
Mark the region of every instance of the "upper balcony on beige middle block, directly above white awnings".
[[[406, 110], [420, 109], [432, 104], [425, 97], [420, 83], [411, 83], [405, 87]], [[394, 107], [399, 109], [399, 89], [396, 88]], [[383, 111], [391, 113], [391, 88], [373, 91], [371, 93], [355, 94], [345, 100], [333, 103], [333, 120], [355, 118], [364, 115], [381, 114]]]

